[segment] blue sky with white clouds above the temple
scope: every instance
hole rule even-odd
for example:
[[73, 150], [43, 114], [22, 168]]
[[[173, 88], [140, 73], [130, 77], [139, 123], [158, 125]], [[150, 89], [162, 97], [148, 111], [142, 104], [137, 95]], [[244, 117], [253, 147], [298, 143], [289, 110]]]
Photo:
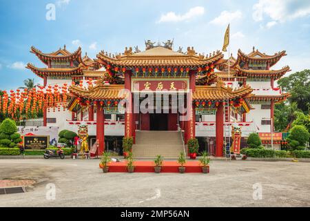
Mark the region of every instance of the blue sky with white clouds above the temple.
[[[231, 52], [251, 52], [255, 46], [272, 54], [287, 50], [273, 67], [289, 65], [291, 73], [310, 66], [309, 0], [1, 0], [0, 89], [14, 89], [34, 78], [28, 62], [44, 65], [30, 53], [35, 46], [53, 52], [65, 44], [82, 47], [96, 57], [100, 50], [123, 52], [125, 46], [144, 49], [144, 40], [174, 39], [174, 49], [194, 46], [205, 54], [220, 50], [231, 23]], [[48, 20], [48, 4], [55, 19]], [[48, 13], [48, 15], [51, 15]]]

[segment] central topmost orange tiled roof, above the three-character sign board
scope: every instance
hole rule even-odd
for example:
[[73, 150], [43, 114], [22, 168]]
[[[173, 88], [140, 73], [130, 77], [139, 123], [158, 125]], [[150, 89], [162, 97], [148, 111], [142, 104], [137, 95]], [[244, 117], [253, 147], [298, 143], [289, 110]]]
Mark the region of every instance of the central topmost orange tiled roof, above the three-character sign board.
[[154, 47], [144, 52], [133, 53], [132, 48], [125, 50], [123, 55], [110, 56], [101, 51], [97, 58], [104, 65], [112, 66], [206, 66], [211, 63], [216, 64], [222, 61], [224, 55], [216, 52], [210, 57], [204, 55], [196, 55], [193, 48], [187, 48], [187, 54], [175, 52], [169, 48], [161, 46]]

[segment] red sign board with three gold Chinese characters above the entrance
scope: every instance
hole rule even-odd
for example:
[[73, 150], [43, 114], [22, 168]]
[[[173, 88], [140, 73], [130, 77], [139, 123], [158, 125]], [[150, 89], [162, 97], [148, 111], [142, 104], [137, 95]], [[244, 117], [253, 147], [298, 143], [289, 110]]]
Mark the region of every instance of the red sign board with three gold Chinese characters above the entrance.
[[132, 78], [132, 92], [188, 92], [189, 79], [186, 78]]

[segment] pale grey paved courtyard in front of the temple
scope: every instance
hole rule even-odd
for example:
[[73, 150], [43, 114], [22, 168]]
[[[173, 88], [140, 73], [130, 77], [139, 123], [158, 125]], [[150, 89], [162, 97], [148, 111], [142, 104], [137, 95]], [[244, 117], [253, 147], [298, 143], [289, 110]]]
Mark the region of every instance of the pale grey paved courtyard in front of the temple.
[[[310, 163], [214, 160], [208, 175], [103, 174], [98, 165], [0, 160], [0, 180], [6, 180], [0, 185], [32, 185], [26, 193], [0, 195], [0, 206], [310, 206]], [[55, 199], [47, 200], [46, 186], [53, 184]]]

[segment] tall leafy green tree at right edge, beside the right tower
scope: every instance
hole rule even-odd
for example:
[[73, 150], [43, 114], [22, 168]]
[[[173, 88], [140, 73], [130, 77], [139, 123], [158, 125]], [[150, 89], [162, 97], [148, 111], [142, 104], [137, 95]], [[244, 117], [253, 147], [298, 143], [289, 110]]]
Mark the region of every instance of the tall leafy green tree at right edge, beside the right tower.
[[278, 80], [278, 85], [291, 94], [289, 102], [296, 102], [304, 113], [309, 112], [310, 70], [302, 70]]

